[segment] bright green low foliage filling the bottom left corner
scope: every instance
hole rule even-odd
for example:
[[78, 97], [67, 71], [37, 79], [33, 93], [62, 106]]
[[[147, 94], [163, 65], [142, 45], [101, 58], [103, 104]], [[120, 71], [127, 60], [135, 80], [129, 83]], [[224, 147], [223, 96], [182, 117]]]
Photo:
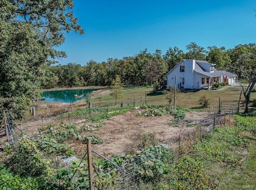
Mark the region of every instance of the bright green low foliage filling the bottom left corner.
[[36, 178], [19, 177], [10, 172], [5, 164], [0, 164], [0, 189], [3, 190], [38, 190]]

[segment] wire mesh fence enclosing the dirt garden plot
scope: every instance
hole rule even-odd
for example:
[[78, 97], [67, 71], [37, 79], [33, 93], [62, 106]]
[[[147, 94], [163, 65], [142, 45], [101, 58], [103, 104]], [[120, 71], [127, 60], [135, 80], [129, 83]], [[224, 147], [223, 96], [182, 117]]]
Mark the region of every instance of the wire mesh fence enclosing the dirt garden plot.
[[[143, 102], [144, 101], [144, 102]], [[139, 101], [139, 105], [145, 103], [146, 99], [142, 99]], [[131, 102], [131, 104], [130, 104]], [[130, 102], [126, 102], [126, 105], [138, 105], [136, 104], [135, 99], [130, 100]], [[116, 109], [117, 106], [121, 107], [124, 106], [124, 102], [119, 101], [116, 103], [116, 105], [112, 104], [99, 104], [104, 105], [101, 107], [101, 109], [98, 109], [96, 106], [97, 104], [94, 104], [93, 108], [87, 107], [84, 111], [83, 115], [75, 115], [74, 110], [71, 112], [72, 104], [70, 104], [70, 107], [67, 107], [67, 110], [61, 111], [59, 113], [62, 113], [61, 115], [64, 117], [64, 119], [70, 120], [70, 117], [79, 117], [79, 119], [91, 119], [97, 115], [100, 114], [107, 114], [112, 111], [120, 110]], [[99, 106], [98, 105], [98, 106]], [[106, 106], [107, 105], [107, 106]], [[88, 105], [87, 105], [88, 106]], [[218, 106], [217, 106], [218, 107]], [[207, 135], [209, 132], [211, 132], [214, 128], [218, 127], [219, 125], [225, 125], [225, 117], [227, 115], [238, 113], [240, 112], [240, 107], [242, 107], [241, 102], [239, 101], [222, 101], [219, 102], [219, 107], [209, 112], [209, 116], [206, 119], [202, 119], [200, 127], [196, 131], [196, 135], [201, 139], [205, 135]], [[49, 112], [48, 112], [49, 113]], [[73, 114], [73, 115], [72, 115]], [[49, 114], [48, 114], [49, 115]], [[44, 117], [48, 116], [47, 114]], [[43, 128], [43, 119], [42, 117], [42, 128]], [[19, 128], [19, 126], [12, 124], [8, 120], [8, 114], [5, 115], [6, 119], [6, 128], [7, 128], [7, 134], [9, 136], [9, 143], [13, 144], [15, 146], [15, 143], [18, 141], [18, 137], [21, 133], [23, 133], [22, 128]], [[157, 118], [159, 119], [159, 118]], [[156, 119], [156, 120], [157, 120]], [[151, 125], [154, 121], [144, 124], [145, 125]], [[195, 136], [194, 136], [195, 137]], [[175, 151], [175, 154], [180, 156], [181, 153], [181, 141], [182, 141], [183, 135], [182, 130], [179, 134], [177, 139], [173, 139], [172, 144], [177, 145], [177, 150]], [[156, 158], [161, 157], [161, 149], [159, 148], [161, 145], [154, 146], [157, 152]], [[135, 146], [130, 148], [129, 151], [126, 151], [124, 155], [128, 155], [130, 152], [141, 152], [144, 149], [143, 145]], [[90, 154], [92, 159], [89, 160], [88, 155]], [[173, 155], [174, 157], [174, 155]], [[145, 160], [150, 159], [150, 155], [145, 155]], [[55, 165], [56, 170], [58, 170], [60, 161], [58, 161], [59, 158], [53, 158], [51, 164]], [[91, 163], [90, 163], [91, 162]], [[124, 190], [130, 190], [130, 189], [136, 189], [138, 188], [138, 183], [140, 182], [140, 179], [143, 178], [143, 176], [139, 172], [140, 165], [142, 164], [141, 158], [139, 156], [131, 157], [130, 159], [123, 160], [120, 163], [116, 163], [113, 160], [107, 158], [104, 156], [104, 154], [98, 152], [97, 150], [94, 150], [93, 147], [87, 148], [87, 152], [84, 155], [84, 157], [80, 160], [78, 165], [74, 167], [72, 176], [70, 181], [75, 181], [75, 189], [79, 190], [87, 190], [87, 189], [124, 189]], [[81, 172], [81, 168], [83, 171]], [[79, 173], [79, 175], [76, 175]], [[114, 177], [113, 177], [114, 176]], [[114, 178], [114, 179], [113, 179]]]

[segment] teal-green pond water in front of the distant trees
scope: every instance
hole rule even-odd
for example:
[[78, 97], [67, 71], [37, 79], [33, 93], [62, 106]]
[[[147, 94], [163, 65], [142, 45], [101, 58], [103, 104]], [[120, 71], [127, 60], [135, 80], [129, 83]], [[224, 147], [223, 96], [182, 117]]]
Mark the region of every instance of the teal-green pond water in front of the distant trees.
[[[98, 89], [72, 89], [72, 90], [54, 90], [45, 91], [41, 94], [45, 98], [45, 102], [76, 102], [78, 100], [86, 99], [88, 93]], [[82, 97], [74, 97], [74, 95], [83, 95]]]

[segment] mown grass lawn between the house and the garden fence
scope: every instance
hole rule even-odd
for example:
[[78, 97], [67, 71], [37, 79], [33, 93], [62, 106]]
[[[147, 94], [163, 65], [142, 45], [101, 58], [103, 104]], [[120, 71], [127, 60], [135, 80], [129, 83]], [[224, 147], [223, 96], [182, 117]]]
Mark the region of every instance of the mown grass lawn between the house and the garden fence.
[[[125, 88], [122, 97], [117, 98], [117, 105], [133, 105], [135, 101], [136, 105], [145, 102], [145, 94], [147, 91], [147, 102], [151, 105], [165, 105], [168, 101], [165, 95], [161, 91], [154, 91], [152, 87], [138, 87], [138, 88]], [[240, 96], [239, 88], [223, 88], [220, 90], [201, 90], [195, 93], [177, 93], [177, 106], [181, 108], [190, 108], [196, 110], [209, 110], [201, 109], [199, 105], [199, 99], [202, 95], [209, 97], [211, 101], [210, 109], [217, 108], [219, 105], [219, 97], [222, 101], [237, 101]], [[256, 93], [251, 93], [251, 106], [256, 104]], [[242, 97], [242, 102], [244, 97]], [[113, 106], [115, 105], [115, 98], [110, 94], [104, 97], [98, 97], [92, 100], [95, 106]], [[172, 102], [173, 103], [173, 102]]]

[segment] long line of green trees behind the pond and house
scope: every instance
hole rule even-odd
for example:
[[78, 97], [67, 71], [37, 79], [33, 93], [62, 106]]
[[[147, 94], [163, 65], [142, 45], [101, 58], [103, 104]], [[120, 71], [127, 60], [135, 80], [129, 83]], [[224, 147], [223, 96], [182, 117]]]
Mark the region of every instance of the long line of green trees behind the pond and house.
[[[104, 62], [89, 61], [85, 66], [69, 63], [67, 65], [48, 66], [46, 80], [42, 88], [76, 86], [110, 86], [119, 76], [122, 84], [152, 85], [163, 79], [164, 75], [182, 59], [206, 60], [216, 64], [218, 70], [226, 70], [246, 79], [241, 70], [244, 62], [255, 60], [256, 44], [239, 44], [233, 49], [216, 46], [205, 49], [195, 42], [186, 46], [185, 53], [178, 47], [169, 48], [166, 53], [147, 49], [122, 59], [108, 58]], [[248, 59], [248, 56], [251, 57]], [[246, 67], [244, 65], [243, 67]], [[239, 69], [240, 68], [240, 69]], [[245, 68], [242, 68], [245, 69]]]

